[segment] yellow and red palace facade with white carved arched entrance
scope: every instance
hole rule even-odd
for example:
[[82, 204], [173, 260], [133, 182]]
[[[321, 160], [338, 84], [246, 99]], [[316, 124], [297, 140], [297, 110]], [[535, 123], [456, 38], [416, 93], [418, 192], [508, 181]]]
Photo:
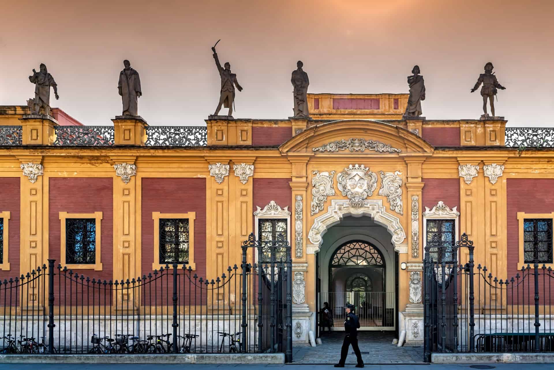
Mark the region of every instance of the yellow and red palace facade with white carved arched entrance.
[[362, 329], [422, 342], [433, 236], [466, 233], [475, 264], [502, 279], [534, 248], [554, 266], [554, 145], [550, 129], [507, 129], [503, 117], [403, 120], [407, 100], [309, 94], [310, 119], [198, 127], [62, 126], [0, 107], [0, 279], [48, 258], [118, 280], [177, 260], [212, 279], [240, 264], [250, 233], [281, 234], [293, 250], [294, 340], [316, 332], [327, 302], [335, 317], [356, 304]]

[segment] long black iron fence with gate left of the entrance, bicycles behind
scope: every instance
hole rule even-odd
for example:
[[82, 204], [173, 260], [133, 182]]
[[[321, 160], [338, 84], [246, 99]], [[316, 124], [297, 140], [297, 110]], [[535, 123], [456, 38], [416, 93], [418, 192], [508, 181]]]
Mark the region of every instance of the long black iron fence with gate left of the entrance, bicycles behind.
[[[277, 248], [286, 249], [286, 259], [276, 260]], [[48, 267], [0, 282], [0, 352], [283, 352], [290, 362], [290, 246], [251, 235], [242, 249], [240, 267], [216, 279], [173, 263], [142, 277], [106, 281], [49, 259]], [[261, 249], [271, 261], [248, 263]]]

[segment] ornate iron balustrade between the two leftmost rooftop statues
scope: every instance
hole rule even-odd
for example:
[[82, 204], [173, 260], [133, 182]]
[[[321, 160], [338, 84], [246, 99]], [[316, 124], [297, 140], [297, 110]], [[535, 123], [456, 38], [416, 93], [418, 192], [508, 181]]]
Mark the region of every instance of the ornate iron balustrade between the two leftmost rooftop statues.
[[111, 147], [113, 126], [55, 126], [54, 145], [69, 147]]

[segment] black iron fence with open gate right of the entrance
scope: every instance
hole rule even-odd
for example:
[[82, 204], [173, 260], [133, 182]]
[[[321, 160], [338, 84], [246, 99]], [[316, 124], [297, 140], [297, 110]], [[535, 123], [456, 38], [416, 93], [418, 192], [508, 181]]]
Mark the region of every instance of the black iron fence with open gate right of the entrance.
[[554, 352], [554, 273], [538, 259], [499, 279], [475, 266], [464, 233], [455, 246], [425, 247], [424, 275], [424, 361], [434, 352]]

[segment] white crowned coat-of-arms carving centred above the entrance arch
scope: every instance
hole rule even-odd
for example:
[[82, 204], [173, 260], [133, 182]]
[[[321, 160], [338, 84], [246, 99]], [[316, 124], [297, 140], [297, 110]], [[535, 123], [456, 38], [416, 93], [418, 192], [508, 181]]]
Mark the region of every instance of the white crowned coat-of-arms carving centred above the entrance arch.
[[358, 208], [376, 189], [377, 175], [363, 164], [350, 165], [337, 175], [337, 186], [350, 199], [352, 207]]

